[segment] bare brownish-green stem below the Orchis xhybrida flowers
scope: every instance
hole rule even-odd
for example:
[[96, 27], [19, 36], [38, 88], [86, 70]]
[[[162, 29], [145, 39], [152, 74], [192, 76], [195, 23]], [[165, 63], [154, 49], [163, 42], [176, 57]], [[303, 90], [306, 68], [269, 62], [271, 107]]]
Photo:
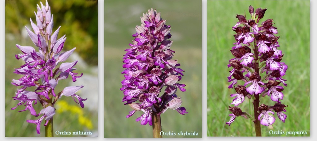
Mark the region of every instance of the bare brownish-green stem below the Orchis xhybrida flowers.
[[[154, 104], [154, 107], [157, 107]], [[153, 128], [153, 138], [163, 138], [160, 134], [162, 132], [162, 125], [161, 125], [161, 115], [158, 112], [152, 112], [152, 128]]]

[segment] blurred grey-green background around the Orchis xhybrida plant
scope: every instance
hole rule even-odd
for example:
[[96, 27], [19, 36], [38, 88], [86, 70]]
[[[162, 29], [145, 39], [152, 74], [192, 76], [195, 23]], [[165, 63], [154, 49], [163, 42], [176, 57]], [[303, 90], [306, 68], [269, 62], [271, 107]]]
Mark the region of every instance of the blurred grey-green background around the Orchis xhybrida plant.
[[[167, 110], [161, 116], [163, 132], [198, 132], [202, 134], [202, 2], [201, 0], [107, 0], [105, 1], [105, 137], [106, 138], [152, 138], [152, 126], [140, 125], [135, 119], [142, 115], [136, 112], [126, 118], [132, 109], [121, 103], [123, 92], [121, 81], [122, 57], [134, 39], [134, 27], [141, 25], [140, 17], [148, 9], [161, 12], [166, 25], [171, 25], [171, 50], [176, 51], [180, 68], [185, 70], [180, 83], [186, 85], [186, 92], [179, 91], [182, 106], [189, 114], [180, 115]], [[163, 136], [163, 138], [184, 138]]]

